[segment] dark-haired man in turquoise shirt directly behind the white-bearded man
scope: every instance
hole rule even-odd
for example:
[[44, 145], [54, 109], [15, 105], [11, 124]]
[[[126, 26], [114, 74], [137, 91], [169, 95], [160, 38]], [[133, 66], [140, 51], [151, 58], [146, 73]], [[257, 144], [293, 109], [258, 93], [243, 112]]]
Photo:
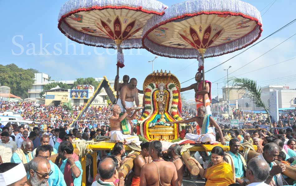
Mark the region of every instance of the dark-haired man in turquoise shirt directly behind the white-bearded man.
[[57, 165], [50, 161], [52, 149], [50, 145], [41, 145], [36, 149], [36, 157], [45, 157], [50, 163], [51, 173], [48, 178], [48, 186], [66, 186], [63, 173]]

